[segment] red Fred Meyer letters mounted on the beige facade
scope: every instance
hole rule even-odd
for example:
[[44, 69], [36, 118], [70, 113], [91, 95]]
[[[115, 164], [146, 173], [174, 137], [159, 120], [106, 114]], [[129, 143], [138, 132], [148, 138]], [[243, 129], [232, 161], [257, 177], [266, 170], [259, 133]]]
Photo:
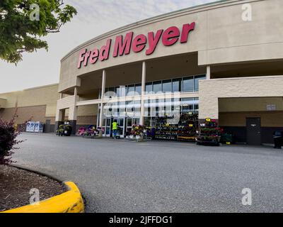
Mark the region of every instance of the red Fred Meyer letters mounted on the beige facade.
[[[180, 43], [187, 43], [190, 31], [195, 29], [195, 22], [187, 23], [183, 25], [182, 31], [179, 28], [173, 26], [166, 31], [160, 29], [154, 34], [154, 32], [149, 32], [146, 35], [137, 35], [134, 37], [133, 32], [129, 32], [125, 35], [123, 39], [122, 35], [119, 35], [115, 38], [114, 50], [112, 52], [113, 57], [119, 57], [122, 55], [129, 55], [131, 50], [133, 52], [141, 52], [146, 48], [146, 44], [148, 44], [148, 48], [146, 49], [146, 55], [151, 55], [159, 41], [162, 40], [164, 46], [171, 46], [178, 42], [180, 39]], [[88, 63], [95, 64], [98, 60], [105, 61], [108, 60], [110, 55], [112, 45], [112, 39], [108, 39], [106, 44], [103, 45], [100, 49], [94, 48], [93, 50], [87, 50], [84, 48], [79, 53], [79, 62], [78, 69], [82, 66], [86, 67]]]

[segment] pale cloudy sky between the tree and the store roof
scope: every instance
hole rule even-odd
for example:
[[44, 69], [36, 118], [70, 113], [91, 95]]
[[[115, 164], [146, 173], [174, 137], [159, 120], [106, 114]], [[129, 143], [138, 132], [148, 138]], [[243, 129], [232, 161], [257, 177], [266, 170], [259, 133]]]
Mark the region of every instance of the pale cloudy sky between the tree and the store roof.
[[212, 1], [215, 0], [64, 0], [65, 4], [74, 6], [78, 14], [62, 27], [60, 33], [43, 38], [48, 42], [48, 52], [24, 53], [23, 61], [17, 66], [0, 60], [0, 93], [58, 83], [62, 57], [98, 35], [129, 23]]

